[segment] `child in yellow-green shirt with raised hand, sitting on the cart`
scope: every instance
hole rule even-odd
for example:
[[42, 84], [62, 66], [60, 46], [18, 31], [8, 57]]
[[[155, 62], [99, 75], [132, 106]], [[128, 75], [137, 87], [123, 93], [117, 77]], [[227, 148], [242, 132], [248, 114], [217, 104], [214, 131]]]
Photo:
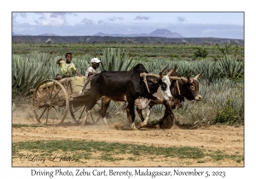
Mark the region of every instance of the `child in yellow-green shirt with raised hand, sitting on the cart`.
[[76, 72], [79, 77], [81, 77], [81, 74], [77, 71], [76, 67], [74, 66], [72, 61], [72, 54], [67, 53], [66, 54], [66, 61], [62, 61], [63, 59], [60, 58], [56, 64], [58, 64], [61, 67], [61, 75], [57, 74], [55, 76], [55, 79], [59, 80], [61, 78], [70, 78], [72, 76], [73, 72]]

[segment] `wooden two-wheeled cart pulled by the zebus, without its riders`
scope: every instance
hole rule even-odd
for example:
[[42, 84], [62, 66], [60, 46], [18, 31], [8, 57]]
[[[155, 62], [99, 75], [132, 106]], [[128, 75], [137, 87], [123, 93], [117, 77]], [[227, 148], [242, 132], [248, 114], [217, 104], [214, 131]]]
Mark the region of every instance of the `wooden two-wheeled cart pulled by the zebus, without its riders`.
[[48, 79], [32, 89], [32, 112], [38, 124], [59, 125], [67, 117], [79, 124], [90, 101], [90, 91], [84, 90], [79, 95], [84, 84], [84, 77], [63, 78], [58, 81]]

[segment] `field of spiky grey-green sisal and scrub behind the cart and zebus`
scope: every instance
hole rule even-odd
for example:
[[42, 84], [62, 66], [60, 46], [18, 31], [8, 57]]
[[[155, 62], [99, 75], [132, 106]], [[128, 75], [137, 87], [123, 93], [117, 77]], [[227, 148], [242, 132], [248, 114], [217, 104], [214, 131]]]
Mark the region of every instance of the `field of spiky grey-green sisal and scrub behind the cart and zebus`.
[[[14, 43], [12, 48], [13, 112], [31, 103], [30, 90], [44, 79], [54, 78], [59, 72], [57, 59], [72, 52], [73, 63], [82, 75], [92, 57], [102, 60], [101, 71], [130, 70], [137, 63], [143, 63], [153, 73], [159, 73], [163, 66], [177, 65], [177, 72], [185, 78], [189, 73], [195, 77], [204, 71], [199, 78], [202, 101], [185, 100], [182, 108], [174, 110], [177, 121], [199, 125], [244, 124], [244, 48], [241, 45]], [[123, 115], [122, 106], [111, 102], [108, 112]], [[162, 117], [164, 110], [162, 105], [154, 106], [148, 123]]]

